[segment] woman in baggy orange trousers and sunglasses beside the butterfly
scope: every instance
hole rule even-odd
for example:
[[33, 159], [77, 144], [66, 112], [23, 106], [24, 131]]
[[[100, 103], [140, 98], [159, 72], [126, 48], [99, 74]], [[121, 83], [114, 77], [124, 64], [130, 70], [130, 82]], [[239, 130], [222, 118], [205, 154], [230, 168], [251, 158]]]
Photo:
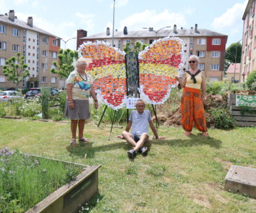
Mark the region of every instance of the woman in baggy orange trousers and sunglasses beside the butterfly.
[[191, 55], [188, 63], [190, 69], [184, 73], [183, 79], [176, 77], [181, 87], [184, 87], [180, 105], [184, 134], [189, 136], [195, 123], [195, 126], [203, 133], [203, 136], [209, 136], [203, 105], [206, 101], [205, 72], [197, 68], [199, 57], [196, 55]]

